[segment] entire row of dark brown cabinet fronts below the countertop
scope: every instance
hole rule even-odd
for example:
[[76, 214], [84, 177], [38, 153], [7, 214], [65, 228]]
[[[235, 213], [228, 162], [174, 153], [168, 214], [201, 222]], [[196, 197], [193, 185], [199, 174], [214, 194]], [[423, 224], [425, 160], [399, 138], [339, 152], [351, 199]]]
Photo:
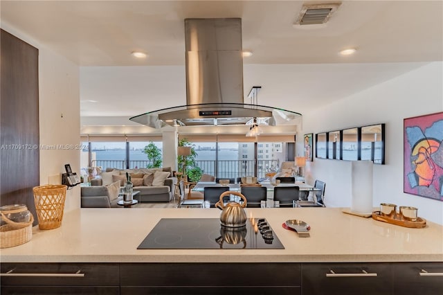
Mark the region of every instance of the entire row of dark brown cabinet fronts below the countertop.
[[2, 263], [3, 294], [443, 294], [443, 262]]

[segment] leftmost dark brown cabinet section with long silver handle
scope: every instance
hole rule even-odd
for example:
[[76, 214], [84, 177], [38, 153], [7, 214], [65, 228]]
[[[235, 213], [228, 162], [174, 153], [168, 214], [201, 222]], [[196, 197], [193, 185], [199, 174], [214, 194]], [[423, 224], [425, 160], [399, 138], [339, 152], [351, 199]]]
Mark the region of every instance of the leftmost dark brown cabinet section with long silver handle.
[[2, 263], [1, 294], [120, 294], [118, 263]]

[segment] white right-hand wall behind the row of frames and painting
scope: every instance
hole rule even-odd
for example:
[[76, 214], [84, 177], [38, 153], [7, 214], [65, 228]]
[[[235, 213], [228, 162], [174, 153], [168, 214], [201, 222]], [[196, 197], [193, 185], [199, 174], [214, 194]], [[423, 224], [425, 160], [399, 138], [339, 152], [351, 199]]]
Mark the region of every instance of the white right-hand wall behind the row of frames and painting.
[[[303, 133], [386, 123], [386, 165], [373, 167], [373, 204], [415, 206], [419, 216], [443, 224], [443, 202], [403, 193], [403, 120], [443, 110], [443, 62], [432, 62], [303, 116]], [[327, 206], [351, 206], [351, 162], [316, 159], [308, 182], [326, 183]]]

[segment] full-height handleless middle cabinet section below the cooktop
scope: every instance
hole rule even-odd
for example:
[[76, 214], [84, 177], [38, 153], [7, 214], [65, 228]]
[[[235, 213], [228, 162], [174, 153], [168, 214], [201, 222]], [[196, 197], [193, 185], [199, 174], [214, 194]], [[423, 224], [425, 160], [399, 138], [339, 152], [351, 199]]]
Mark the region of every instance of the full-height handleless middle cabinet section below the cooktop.
[[300, 263], [123, 263], [120, 294], [301, 294]]

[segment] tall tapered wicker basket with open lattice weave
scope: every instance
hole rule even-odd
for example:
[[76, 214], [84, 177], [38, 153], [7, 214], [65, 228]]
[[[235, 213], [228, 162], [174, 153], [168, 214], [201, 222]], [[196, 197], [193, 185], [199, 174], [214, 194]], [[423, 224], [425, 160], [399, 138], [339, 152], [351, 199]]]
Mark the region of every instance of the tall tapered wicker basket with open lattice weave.
[[62, 225], [66, 188], [53, 184], [33, 188], [39, 229], [57, 229]]

